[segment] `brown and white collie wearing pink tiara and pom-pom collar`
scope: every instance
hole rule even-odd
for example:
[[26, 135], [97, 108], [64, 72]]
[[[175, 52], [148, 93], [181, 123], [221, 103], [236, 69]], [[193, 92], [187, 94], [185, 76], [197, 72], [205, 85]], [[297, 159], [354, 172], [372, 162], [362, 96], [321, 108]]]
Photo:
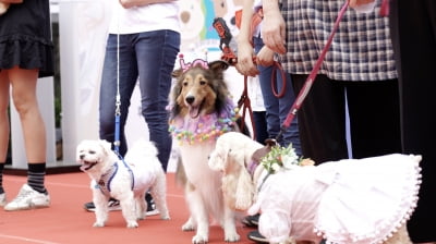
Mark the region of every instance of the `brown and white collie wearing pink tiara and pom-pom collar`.
[[217, 137], [238, 130], [237, 108], [223, 80], [229, 64], [203, 60], [181, 64], [172, 74], [177, 82], [170, 95], [169, 131], [179, 143], [178, 170], [184, 170], [185, 199], [191, 211], [182, 230], [196, 230], [192, 243], [207, 243], [213, 217], [222, 227], [225, 241], [237, 242], [240, 235], [235, 215], [223, 203], [221, 173], [207, 166]]

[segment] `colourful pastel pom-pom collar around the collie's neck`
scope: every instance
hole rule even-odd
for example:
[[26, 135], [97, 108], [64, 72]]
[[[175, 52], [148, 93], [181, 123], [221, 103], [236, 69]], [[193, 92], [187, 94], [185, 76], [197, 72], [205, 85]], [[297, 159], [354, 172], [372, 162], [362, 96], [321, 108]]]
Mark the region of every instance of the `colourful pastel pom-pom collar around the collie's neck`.
[[226, 132], [233, 131], [238, 119], [239, 108], [233, 106], [231, 99], [221, 113], [199, 115], [196, 119], [177, 117], [170, 121], [169, 132], [181, 144], [192, 145], [208, 139], [216, 139]]

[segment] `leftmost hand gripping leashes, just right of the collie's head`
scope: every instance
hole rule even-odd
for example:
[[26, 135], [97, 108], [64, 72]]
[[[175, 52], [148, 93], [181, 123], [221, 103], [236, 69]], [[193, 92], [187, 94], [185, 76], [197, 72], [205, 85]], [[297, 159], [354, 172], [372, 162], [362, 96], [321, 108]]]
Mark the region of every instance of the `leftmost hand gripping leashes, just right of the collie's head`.
[[234, 65], [239, 73], [246, 76], [256, 76], [259, 72], [253, 62], [254, 51], [249, 41], [238, 42], [238, 63]]

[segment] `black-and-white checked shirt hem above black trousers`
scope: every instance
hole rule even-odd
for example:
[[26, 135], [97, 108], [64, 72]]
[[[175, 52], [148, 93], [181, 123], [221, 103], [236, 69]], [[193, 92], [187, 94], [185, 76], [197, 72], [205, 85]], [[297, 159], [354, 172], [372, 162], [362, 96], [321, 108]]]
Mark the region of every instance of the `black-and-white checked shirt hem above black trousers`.
[[[282, 0], [288, 52], [283, 69], [308, 74], [327, 42], [344, 0]], [[336, 33], [319, 73], [338, 81], [397, 78], [389, 20], [379, 5], [368, 14], [349, 9]]]

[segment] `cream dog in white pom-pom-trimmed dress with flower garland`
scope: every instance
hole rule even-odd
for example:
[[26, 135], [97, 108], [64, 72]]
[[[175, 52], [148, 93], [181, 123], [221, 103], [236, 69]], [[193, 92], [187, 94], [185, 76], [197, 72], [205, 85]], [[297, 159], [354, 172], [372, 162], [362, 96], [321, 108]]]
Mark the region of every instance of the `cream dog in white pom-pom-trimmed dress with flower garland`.
[[392, 154], [314, 166], [292, 147], [264, 146], [240, 133], [217, 141], [209, 167], [223, 174], [226, 204], [262, 212], [259, 232], [270, 243], [405, 244], [417, 200], [421, 156]]

